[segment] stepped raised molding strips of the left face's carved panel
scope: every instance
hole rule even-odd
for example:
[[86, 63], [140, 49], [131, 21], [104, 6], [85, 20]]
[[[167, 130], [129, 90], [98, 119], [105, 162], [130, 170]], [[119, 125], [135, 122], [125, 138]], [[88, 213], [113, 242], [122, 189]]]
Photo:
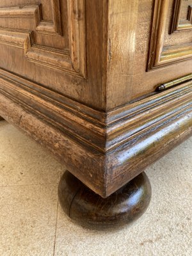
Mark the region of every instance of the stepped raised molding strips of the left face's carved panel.
[[[42, 20], [40, 4], [0, 8], [0, 18], [33, 19], [36, 33], [62, 35], [60, 0], [51, 3], [52, 22]], [[69, 52], [33, 44], [33, 31], [17, 28], [0, 28], [0, 44], [23, 48], [29, 61], [86, 77], [84, 0], [67, 0], [67, 12]]]

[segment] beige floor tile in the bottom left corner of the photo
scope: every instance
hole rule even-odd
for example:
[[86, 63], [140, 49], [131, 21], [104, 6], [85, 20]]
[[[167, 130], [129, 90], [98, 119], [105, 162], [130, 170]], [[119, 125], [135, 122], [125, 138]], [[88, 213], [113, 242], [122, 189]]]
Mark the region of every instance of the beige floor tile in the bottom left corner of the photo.
[[0, 255], [53, 255], [57, 205], [56, 184], [1, 187]]

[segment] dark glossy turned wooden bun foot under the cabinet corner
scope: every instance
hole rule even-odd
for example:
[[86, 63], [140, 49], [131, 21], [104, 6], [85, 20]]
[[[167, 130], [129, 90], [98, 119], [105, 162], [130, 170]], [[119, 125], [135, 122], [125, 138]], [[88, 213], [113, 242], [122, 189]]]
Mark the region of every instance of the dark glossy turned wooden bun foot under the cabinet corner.
[[143, 172], [108, 198], [102, 198], [70, 172], [61, 177], [58, 196], [67, 215], [89, 228], [119, 227], [139, 218], [148, 207], [151, 187]]

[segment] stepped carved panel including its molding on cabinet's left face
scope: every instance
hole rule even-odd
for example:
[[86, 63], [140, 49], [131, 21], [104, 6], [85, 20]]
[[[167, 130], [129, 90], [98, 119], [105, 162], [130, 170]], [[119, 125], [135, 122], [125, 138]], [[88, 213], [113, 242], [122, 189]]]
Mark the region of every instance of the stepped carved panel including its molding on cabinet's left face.
[[73, 6], [70, 0], [14, 1], [9, 7], [1, 3], [1, 44], [22, 48], [24, 57], [39, 68], [45, 65], [84, 77], [84, 15], [77, 20], [79, 14], [74, 13], [84, 13], [83, 2]]

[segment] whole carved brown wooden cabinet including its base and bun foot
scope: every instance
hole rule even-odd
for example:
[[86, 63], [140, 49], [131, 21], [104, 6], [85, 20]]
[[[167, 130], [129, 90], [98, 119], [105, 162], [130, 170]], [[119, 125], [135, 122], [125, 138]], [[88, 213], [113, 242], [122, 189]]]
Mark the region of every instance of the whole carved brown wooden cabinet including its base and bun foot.
[[1, 0], [0, 54], [0, 115], [77, 178], [71, 218], [140, 216], [143, 170], [191, 134], [192, 1]]

